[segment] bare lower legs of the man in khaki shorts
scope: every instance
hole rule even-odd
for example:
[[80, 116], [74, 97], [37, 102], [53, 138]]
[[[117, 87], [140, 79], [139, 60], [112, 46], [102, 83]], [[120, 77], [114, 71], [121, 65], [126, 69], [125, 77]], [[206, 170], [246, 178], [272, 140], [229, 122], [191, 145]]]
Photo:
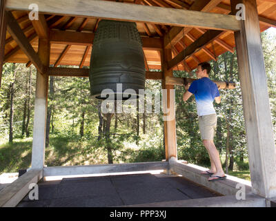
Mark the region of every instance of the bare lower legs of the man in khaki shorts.
[[219, 151], [217, 151], [217, 148], [213, 142], [213, 140], [203, 140], [204, 146], [207, 149], [208, 153], [210, 154], [210, 158], [213, 160], [213, 164], [215, 164], [216, 173], [214, 173], [214, 176], [224, 176], [224, 171], [221, 166], [221, 162], [219, 159]]

